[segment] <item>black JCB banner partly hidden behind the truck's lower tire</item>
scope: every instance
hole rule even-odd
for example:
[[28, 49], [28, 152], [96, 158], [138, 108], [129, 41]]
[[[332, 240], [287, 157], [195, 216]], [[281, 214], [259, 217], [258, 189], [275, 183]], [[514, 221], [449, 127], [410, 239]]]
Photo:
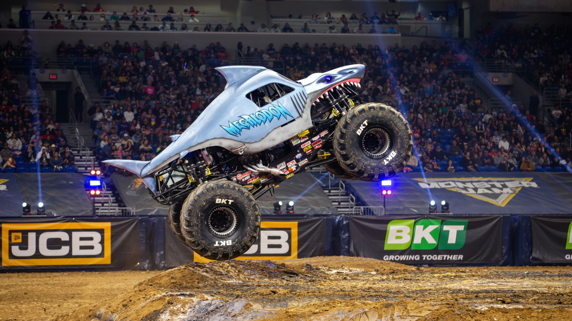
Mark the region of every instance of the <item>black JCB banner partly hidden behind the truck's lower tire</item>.
[[[211, 262], [178, 240], [165, 220], [165, 267], [188, 261]], [[324, 218], [264, 217], [260, 235], [237, 260], [297, 259], [325, 254]], [[162, 264], [157, 264], [161, 266]]]

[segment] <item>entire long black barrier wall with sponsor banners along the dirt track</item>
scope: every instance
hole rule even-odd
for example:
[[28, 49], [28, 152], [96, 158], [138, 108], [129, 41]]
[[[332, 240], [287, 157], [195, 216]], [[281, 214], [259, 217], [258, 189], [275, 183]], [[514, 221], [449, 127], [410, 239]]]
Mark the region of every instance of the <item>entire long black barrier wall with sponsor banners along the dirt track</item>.
[[[0, 271], [166, 269], [208, 262], [164, 216], [0, 220]], [[263, 216], [239, 259], [354, 255], [406, 264], [572, 263], [572, 215]]]

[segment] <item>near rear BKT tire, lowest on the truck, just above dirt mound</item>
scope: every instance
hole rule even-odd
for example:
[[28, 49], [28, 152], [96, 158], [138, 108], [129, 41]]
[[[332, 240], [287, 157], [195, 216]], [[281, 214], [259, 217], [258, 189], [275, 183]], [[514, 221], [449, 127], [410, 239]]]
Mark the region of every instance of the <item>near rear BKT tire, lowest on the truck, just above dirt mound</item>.
[[248, 251], [260, 233], [260, 209], [244, 187], [213, 180], [191, 192], [181, 210], [181, 232], [193, 251], [229, 260]]

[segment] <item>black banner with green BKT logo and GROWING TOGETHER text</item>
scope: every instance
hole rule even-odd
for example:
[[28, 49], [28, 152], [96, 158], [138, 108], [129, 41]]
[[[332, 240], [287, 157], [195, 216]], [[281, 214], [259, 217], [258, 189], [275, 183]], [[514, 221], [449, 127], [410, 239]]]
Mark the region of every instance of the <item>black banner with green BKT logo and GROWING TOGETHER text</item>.
[[499, 264], [501, 216], [349, 217], [350, 255], [408, 264]]

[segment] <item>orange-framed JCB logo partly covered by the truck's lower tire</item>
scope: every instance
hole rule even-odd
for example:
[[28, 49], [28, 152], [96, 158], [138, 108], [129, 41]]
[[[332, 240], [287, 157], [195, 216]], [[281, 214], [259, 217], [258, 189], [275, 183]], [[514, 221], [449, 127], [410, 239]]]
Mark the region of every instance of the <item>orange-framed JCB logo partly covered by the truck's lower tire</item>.
[[[298, 222], [261, 222], [260, 235], [237, 260], [279, 260], [298, 258]], [[194, 253], [195, 262], [212, 260]]]

